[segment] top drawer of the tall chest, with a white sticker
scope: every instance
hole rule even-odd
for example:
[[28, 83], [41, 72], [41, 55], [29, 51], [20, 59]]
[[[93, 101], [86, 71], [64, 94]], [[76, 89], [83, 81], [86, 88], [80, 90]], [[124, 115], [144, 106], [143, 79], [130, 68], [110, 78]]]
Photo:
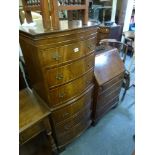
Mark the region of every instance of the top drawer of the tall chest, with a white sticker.
[[42, 66], [54, 66], [76, 60], [91, 53], [95, 49], [96, 38], [68, 44], [57, 48], [45, 49], [39, 52]]

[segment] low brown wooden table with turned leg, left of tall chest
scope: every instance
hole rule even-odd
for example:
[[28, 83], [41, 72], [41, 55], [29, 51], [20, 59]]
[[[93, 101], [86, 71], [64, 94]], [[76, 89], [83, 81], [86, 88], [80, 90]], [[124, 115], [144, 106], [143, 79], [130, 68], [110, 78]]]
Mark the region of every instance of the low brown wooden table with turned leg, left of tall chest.
[[40, 98], [36, 98], [29, 89], [19, 92], [19, 142], [25, 144], [41, 132], [45, 132], [51, 147], [51, 153], [57, 152], [52, 137], [48, 116], [50, 110]]

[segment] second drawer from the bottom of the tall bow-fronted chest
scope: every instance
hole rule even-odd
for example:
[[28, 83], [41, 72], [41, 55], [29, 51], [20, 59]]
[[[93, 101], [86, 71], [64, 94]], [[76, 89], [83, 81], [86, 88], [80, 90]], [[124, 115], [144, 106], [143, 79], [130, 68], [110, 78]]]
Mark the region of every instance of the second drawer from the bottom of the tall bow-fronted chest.
[[81, 120], [90, 120], [91, 118], [91, 103], [87, 107], [83, 108], [79, 113], [74, 116], [64, 120], [62, 123], [59, 123], [55, 126], [55, 132], [59, 136], [66, 134], [66, 132], [71, 131], [74, 126], [76, 126]]

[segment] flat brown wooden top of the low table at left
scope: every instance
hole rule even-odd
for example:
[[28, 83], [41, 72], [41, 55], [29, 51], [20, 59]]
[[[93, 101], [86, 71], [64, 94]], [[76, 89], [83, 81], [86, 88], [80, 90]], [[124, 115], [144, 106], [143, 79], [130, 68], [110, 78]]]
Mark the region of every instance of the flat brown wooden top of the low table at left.
[[19, 132], [50, 114], [49, 109], [28, 89], [19, 92]]

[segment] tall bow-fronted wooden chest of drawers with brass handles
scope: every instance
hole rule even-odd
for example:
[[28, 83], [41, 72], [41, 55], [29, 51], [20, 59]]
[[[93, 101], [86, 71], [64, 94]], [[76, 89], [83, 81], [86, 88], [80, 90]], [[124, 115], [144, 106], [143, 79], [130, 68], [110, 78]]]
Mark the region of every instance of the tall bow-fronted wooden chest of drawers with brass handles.
[[40, 27], [20, 28], [20, 45], [33, 91], [51, 109], [59, 149], [89, 127], [94, 88], [97, 24], [67, 24], [67, 29], [48, 32]]

